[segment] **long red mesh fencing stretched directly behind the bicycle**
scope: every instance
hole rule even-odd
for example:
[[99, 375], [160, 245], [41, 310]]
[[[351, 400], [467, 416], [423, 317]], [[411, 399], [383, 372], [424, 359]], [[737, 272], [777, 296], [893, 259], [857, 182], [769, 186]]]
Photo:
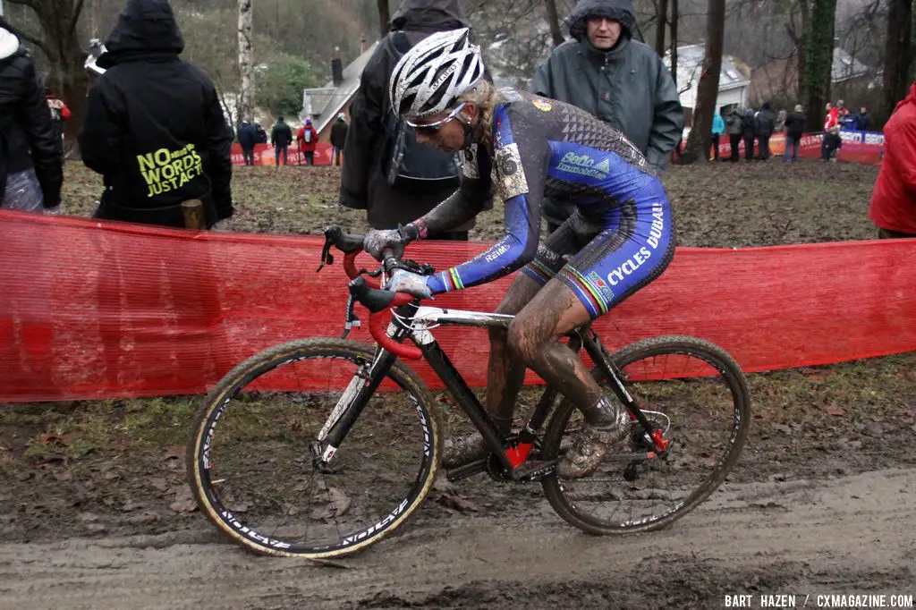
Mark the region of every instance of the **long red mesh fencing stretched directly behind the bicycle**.
[[[321, 245], [0, 212], [0, 401], [198, 393], [267, 345], [338, 336], [343, 256], [316, 274]], [[409, 255], [444, 268], [484, 247], [422, 243]], [[914, 258], [914, 240], [679, 248], [659, 280], [595, 329], [612, 348], [703, 337], [747, 371], [913, 351]], [[431, 304], [493, 310], [510, 281]], [[483, 386], [485, 332], [434, 333], [468, 383]], [[365, 328], [352, 336], [367, 341]]]

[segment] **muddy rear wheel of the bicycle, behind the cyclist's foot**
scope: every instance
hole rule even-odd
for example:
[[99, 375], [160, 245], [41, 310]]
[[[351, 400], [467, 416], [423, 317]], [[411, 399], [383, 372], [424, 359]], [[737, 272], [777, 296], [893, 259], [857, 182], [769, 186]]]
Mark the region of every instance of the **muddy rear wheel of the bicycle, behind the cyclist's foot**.
[[[672, 441], [670, 450], [656, 457], [634, 422], [630, 438], [594, 474], [551, 474], [542, 480], [544, 492], [562, 518], [589, 533], [664, 528], [712, 494], [738, 461], [750, 425], [747, 380], [724, 350], [692, 337], [640, 341], [610, 360], [653, 427]], [[562, 457], [582, 423], [573, 403], [562, 400], [544, 436], [543, 459]]]

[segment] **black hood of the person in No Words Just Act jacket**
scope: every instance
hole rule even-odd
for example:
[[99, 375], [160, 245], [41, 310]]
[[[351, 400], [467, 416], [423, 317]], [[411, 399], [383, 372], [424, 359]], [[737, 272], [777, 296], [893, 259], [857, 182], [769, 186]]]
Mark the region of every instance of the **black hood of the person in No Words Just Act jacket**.
[[173, 55], [184, 50], [184, 38], [168, 0], [127, 0], [98, 65], [109, 68], [130, 56]]

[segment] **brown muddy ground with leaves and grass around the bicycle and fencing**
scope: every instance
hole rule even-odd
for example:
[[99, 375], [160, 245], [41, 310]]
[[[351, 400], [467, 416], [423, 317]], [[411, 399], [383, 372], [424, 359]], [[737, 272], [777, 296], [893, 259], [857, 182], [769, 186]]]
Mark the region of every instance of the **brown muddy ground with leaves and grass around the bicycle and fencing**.
[[[674, 168], [683, 245], [869, 238], [877, 170], [816, 162]], [[68, 168], [69, 212], [98, 184]], [[250, 169], [236, 230], [360, 227], [334, 169]], [[272, 202], [266, 202], [268, 193]], [[479, 234], [498, 230], [493, 218]], [[754, 419], [719, 491], [671, 528], [594, 538], [540, 485], [483, 477], [333, 564], [257, 558], [194, 509], [196, 397], [0, 408], [0, 608], [712, 608], [725, 595], [916, 594], [916, 356], [749, 377]], [[806, 607], [808, 607], [806, 606]]]

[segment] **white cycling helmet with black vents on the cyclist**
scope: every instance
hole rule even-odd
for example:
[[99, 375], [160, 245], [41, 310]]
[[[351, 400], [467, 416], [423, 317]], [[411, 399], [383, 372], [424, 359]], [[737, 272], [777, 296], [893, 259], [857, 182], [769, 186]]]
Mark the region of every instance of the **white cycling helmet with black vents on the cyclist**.
[[391, 73], [391, 109], [400, 116], [441, 113], [484, 78], [480, 47], [467, 27], [437, 32], [404, 54]]

